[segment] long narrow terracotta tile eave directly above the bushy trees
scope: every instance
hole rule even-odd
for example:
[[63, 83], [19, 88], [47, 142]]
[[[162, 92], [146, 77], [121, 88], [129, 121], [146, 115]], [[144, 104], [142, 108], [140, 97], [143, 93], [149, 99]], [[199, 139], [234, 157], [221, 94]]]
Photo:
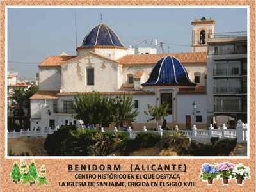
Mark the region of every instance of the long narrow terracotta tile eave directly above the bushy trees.
[[[77, 95], [90, 95], [95, 92], [72, 92], [72, 93], [58, 93], [56, 96], [77, 96]], [[102, 95], [154, 95], [155, 92], [131, 91], [131, 92], [99, 92]]]

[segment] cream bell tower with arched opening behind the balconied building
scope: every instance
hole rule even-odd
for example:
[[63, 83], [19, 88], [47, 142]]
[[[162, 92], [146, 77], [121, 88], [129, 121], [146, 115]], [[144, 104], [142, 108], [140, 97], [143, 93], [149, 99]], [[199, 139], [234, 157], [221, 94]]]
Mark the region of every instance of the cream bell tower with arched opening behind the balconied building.
[[207, 52], [208, 38], [214, 36], [215, 20], [210, 17], [202, 17], [200, 20], [195, 19], [192, 25], [192, 52]]

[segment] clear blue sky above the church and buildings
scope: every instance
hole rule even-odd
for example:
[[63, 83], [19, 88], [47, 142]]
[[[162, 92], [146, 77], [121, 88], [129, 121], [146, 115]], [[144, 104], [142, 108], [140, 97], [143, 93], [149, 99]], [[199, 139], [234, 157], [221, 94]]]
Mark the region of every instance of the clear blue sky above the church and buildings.
[[186, 45], [164, 45], [166, 52], [191, 52], [195, 16], [212, 17], [215, 33], [247, 31], [246, 8], [8, 8], [8, 70], [19, 72], [18, 79], [34, 79], [45, 57], [61, 51], [75, 55], [75, 12], [77, 46], [100, 23], [100, 14], [125, 47], [151, 38], [157, 44]]

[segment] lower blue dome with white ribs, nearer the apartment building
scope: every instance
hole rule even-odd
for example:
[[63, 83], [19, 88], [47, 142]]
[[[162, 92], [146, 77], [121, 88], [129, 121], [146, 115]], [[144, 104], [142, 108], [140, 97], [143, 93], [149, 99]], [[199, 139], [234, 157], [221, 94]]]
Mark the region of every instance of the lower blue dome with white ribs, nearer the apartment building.
[[157, 61], [148, 81], [142, 85], [196, 86], [190, 81], [188, 74], [177, 58], [166, 56]]

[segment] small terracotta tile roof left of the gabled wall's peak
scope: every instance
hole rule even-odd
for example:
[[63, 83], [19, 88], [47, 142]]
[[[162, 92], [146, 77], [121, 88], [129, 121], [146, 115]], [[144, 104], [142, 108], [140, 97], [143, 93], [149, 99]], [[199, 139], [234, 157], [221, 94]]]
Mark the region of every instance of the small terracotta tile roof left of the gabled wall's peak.
[[75, 57], [76, 56], [48, 56], [38, 65], [38, 67], [60, 67], [61, 63], [64, 63], [65, 61]]

